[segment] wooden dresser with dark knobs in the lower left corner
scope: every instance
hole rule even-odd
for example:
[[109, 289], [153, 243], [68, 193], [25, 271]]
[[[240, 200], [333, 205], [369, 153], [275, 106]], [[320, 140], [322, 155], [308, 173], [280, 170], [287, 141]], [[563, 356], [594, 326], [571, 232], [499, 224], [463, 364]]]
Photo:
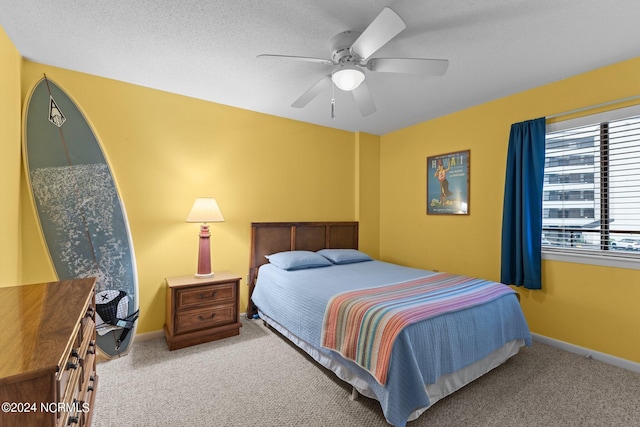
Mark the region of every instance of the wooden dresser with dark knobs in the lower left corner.
[[95, 279], [0, 288], [0, 426], [89, 426]]

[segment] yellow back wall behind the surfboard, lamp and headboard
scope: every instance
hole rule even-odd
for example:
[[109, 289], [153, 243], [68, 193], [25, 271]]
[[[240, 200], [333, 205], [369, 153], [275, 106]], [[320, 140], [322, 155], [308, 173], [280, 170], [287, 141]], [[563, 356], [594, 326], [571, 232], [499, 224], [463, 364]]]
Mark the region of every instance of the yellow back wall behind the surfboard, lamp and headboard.
[[[23, 97], [43, 73], [83, 110], [115, 175], [137, 258], [138, 332], [162, 328], [164, 278], [195, 273], [199, 225], [185, 219], [196, 197], [216, 197], [225, 217], [211, 225], [212, 267], [243, 277], [241, 311], [252, 221], [356, 219], [351, 132], [28, 61]], [[23, 196], [24, 282], [50, 280], [25, 187]]]

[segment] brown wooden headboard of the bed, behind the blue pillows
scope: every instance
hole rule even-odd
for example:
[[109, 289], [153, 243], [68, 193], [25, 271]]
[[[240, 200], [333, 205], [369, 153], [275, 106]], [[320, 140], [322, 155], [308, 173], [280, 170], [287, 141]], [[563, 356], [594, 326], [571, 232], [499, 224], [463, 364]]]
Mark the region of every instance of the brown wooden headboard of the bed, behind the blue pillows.
[[268, 263], [265, 255], [283, 251], [358, 249], [357, 222], [253, 222], [249, 256], [249, 303], [247, 317], [257, 313], [251, 295], [258, 268]]

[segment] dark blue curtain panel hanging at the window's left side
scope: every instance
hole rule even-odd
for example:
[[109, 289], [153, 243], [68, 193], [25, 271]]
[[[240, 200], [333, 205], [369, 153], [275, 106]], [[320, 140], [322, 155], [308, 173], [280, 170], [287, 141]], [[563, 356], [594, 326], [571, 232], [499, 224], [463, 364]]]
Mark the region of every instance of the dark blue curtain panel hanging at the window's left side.
[[500, 281], [542, 288], [544, 117], [511, 125], [502, 211]]

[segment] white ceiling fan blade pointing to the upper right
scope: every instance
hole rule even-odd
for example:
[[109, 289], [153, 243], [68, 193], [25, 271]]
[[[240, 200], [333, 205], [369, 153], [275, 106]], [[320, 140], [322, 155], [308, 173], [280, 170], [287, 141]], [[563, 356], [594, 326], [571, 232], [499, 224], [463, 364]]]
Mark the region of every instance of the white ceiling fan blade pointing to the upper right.
[[391, 8], [385, 7], [353, 42], [351, 51], [360, 58], [367, 59], [405, 28], [407, 24], [402, 18]]

